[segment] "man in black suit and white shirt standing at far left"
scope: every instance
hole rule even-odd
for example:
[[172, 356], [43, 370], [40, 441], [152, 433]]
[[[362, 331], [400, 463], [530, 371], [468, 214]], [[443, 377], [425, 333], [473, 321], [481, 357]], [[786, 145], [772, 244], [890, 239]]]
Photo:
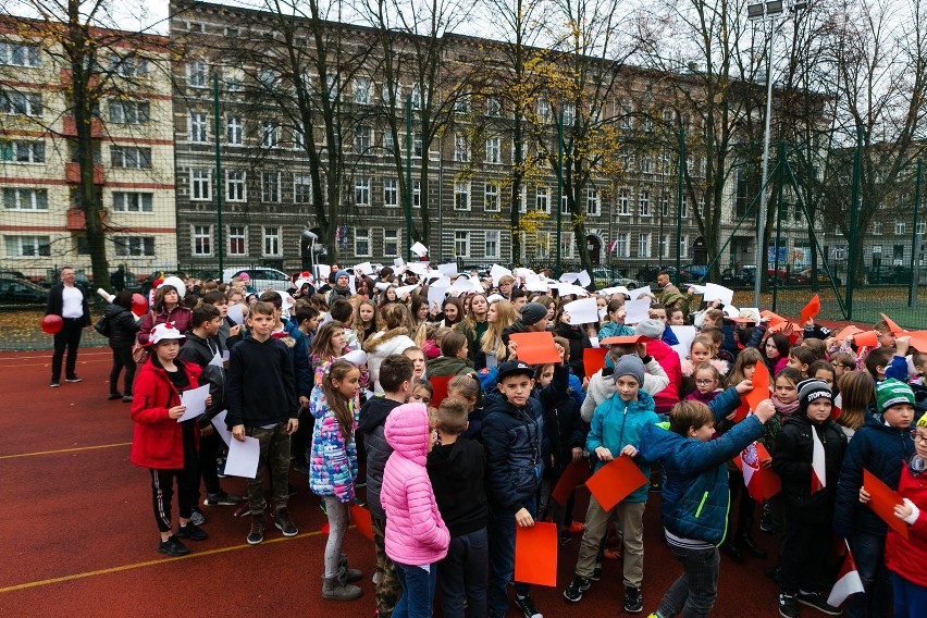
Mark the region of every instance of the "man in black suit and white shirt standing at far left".
[[54, 284], [48, 291], [48, 307], [46, 316], [59, 316], [64, 324], [54, 333], [54, 354], [51, 357], [52, 388], [61, 385], [61, 359], [67, 350], [67, 361], [64, 367], [65, 382], [81, 382], [74, 372], [77, 366], [77, 348], [81, 346], [81, 332], [90, 325], [90, 310], [87, 308], [87, 297], [74, 285], [75, 272], [71, 267], [63, 267], [60, 272], [61, 283]]

